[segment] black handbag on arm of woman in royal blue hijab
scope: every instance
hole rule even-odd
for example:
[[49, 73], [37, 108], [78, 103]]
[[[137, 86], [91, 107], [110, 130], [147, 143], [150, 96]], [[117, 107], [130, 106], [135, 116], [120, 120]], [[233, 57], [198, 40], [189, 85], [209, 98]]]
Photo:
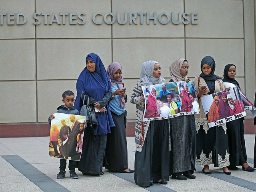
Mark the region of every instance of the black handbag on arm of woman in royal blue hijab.
[[89, 96], [87, 98], [87, 105], [84, 104], [84, 100], [85, 96], [83, 99], [83, 106], [80, 110], [80, 115], [86, 116], [87, 125], [89, 125], [90, 127], [92, 127], [92, 125], [98, 125], [97, 115], [94, 110], [94, 107], [89, 106]]

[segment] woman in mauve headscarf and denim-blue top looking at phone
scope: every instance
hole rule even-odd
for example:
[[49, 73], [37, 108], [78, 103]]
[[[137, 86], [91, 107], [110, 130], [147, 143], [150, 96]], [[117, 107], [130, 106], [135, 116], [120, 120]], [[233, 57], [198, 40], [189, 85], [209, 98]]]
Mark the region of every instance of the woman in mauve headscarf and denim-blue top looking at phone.
[[105, 168], [112, 172], [134, 173], [128, 168], [128, 152], [126, 141], [126, 108], [127, 95], [122, 77], [122, 66], [113, 62], [107, 68], [111, 81], [112, 96], [109, 108], [115, 127], [110, 128], [107, 136]]

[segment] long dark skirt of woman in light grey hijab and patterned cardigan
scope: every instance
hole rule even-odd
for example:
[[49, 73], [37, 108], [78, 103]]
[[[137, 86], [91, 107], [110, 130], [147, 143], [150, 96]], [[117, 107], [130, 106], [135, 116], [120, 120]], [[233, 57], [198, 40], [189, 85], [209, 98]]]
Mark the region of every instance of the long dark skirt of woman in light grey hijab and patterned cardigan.
[[150, 186], [150, 180], [169, 180], [168, 119], [151, 121], [141, 152], [135, 153], [134, 181]]

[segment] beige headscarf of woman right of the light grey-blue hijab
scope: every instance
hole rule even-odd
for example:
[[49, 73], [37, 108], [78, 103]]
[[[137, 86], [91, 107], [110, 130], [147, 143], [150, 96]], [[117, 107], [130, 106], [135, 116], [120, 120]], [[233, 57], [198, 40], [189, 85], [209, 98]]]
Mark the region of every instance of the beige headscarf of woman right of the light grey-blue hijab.
[[181, 76], [180, 69], [183, 62], [186, 59], [179, 58], [178, 60], [174, 61], [171, 66], [169, 67], [169, 73], [171, 75], [172, 80], [174, 81], [186, 81], [188, 78], [185, 76]]

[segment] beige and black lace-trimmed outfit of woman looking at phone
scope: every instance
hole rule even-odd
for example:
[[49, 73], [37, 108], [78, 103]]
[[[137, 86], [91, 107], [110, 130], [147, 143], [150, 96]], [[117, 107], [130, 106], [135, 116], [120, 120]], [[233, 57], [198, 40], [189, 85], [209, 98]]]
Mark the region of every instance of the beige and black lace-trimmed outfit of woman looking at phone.
[[[204, 78], [195, 77], [196, 90], [200, 86], [206, 86], [209, 90]], [[215, 81], [214, 93], [225, 90], [222, 80]], [[201, 97], [208, 95], [203, 94]], [[201, 99], [198, 100], [200, 106], [200, 114], [195, 115], [196, 121], [196, 165], [214, 164], [215, 167], [225, 167], [230, 165], [228, 135], [226, 124], [209, 128]]]

